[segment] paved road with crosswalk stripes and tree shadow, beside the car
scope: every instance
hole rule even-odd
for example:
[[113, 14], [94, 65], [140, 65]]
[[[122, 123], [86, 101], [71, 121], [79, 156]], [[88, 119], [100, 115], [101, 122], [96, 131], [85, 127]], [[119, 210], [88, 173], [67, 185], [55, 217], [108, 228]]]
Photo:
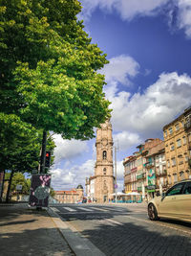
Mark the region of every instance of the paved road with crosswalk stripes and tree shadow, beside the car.
[[59, 204], [52, 209], [106, 255], [191, 256], [191, 224], [150, 221], [146, 204]]

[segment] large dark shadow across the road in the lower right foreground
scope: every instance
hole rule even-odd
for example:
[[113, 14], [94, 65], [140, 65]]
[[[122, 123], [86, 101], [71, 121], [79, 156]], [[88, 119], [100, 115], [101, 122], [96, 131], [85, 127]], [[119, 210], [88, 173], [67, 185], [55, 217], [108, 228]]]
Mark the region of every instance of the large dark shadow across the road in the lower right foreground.
[[191, 236], [153, 223], [107, 221], [81, 232], [106, 255], [186, 255], [191, 253]]

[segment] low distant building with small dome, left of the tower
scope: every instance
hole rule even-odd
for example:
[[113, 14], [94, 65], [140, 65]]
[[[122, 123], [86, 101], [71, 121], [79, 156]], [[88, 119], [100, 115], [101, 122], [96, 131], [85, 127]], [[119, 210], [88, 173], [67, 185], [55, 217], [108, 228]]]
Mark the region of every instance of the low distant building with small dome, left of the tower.
[[73, 190], [55, 191], [55, 196], [53, 198], [59, 203], [76, 203], [81, 201], [83, 197], [83, 187], [78, 185], [77, 188]]

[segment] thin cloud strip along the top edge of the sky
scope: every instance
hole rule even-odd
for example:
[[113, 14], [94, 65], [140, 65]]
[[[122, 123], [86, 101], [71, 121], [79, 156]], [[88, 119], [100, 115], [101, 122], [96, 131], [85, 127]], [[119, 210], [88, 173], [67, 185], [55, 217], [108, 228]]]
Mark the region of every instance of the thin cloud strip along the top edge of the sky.
[[[79, 19], [86, 22], [99, 8], [102, 12], [118, 12], [121, 19], [132, 20], [136, 16], [158, 15], [166, 7], [168, 25], [171, 29], [183, 29], [191, 37], [191, 1], [190, 0], [81, 0], [82, 12]], [[164, 12], [162, 12], [164, 13]]]

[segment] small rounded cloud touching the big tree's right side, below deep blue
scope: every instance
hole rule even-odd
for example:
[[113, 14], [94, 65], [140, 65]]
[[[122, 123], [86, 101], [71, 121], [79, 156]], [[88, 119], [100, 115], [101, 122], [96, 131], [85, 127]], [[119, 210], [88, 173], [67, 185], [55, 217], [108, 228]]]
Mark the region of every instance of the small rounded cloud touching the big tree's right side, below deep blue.
[[116, 58], [110, 58], [110, 63], [105, 65], [100, 71], [105, 75], [107, 82], [121, 82], [129, 85], [131, 82], [129, 78], [133, 78], [138, 74], [139, 64], [130, 56], [121, 55]]

